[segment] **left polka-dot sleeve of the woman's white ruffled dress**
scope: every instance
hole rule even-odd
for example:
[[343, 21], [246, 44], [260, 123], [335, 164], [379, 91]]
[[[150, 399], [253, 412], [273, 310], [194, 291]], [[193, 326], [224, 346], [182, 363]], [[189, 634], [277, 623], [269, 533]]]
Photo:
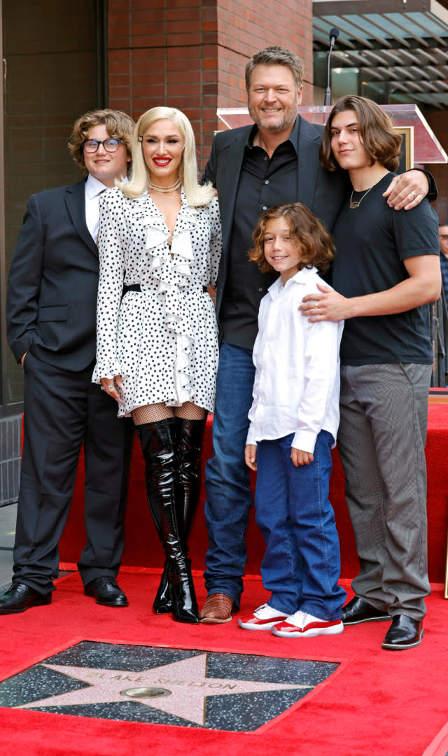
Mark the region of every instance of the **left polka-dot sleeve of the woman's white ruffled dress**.
[[[113, 192], [117, 200], [122, 197], [119, 190]], [[113, 208], [110, 197], [112, 192], [100, 197], [100, 280], [97, 298], [97, 364], [92, 376], [94, 383], [100, 383], [100, 378], [113, 378], [122, 373], [116, 358], [116, 332], [125, 279], [125, 250], [119, 233], [122, 208], [119, 207], [119, 200]]]

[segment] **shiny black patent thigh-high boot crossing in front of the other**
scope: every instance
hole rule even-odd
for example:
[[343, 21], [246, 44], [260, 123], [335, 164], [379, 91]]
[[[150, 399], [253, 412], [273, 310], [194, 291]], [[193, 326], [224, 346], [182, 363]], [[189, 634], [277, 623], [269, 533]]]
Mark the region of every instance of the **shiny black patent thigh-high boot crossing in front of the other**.
[[178, 463], [175, 455], [175, 418], [136, 426], [146, 463], [148, 502], [168, 565], [171, 611], [179, 622], [199, 622], [190, 559], [178, 522]]

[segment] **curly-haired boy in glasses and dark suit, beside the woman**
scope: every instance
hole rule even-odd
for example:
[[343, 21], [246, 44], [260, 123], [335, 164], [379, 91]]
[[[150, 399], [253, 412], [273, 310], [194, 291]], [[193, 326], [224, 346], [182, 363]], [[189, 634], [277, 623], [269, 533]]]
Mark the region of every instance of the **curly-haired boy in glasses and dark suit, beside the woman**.
[[127, 606], [116, 582], [134, 427], [91, 383], [96, 351], [99, 195], [125, 178], [134, 122], [78, 119], [69, 147], [86, 179], [29, 198], [8, 280], [8, 341], [24, 371], [23, 456], [14, 577], [0, 614], [51, 602], [79, 451], [85, 454], [85, 594]]

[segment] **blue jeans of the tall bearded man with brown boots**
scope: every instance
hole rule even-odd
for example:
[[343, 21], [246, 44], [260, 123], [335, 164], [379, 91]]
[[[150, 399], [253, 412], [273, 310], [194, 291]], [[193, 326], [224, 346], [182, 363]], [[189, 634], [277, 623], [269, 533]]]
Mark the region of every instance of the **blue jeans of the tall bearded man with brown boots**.
[[213, 419], [213, 457], [205, 465], [205, 522], [209, 550], [205, 587], [239, 606], [246, 565], [246, 529], [252, 491], [244, 461], [255, 367], [252, 351], [222, 344]]

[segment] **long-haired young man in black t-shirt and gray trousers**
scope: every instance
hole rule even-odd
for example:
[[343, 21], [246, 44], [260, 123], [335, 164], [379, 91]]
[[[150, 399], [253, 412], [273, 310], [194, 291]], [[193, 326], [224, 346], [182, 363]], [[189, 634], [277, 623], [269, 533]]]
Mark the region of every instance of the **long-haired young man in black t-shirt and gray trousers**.
[[[440, 296], [437, 216], [403, 212], [382, 193], [401, 138], [374, 102], [338, 100], [321, 162], [353, 191], [333, 231], [335, 291], [304, 297], [312, 321], [345, 320], [338, 447], [360, 573], [344, 624], [392, 619], [384, 649], [422, 640], [428, 596], [425, 439], [432, 350], [428, 302]], [[409, 196], [413, 199], [412, 196]]]

